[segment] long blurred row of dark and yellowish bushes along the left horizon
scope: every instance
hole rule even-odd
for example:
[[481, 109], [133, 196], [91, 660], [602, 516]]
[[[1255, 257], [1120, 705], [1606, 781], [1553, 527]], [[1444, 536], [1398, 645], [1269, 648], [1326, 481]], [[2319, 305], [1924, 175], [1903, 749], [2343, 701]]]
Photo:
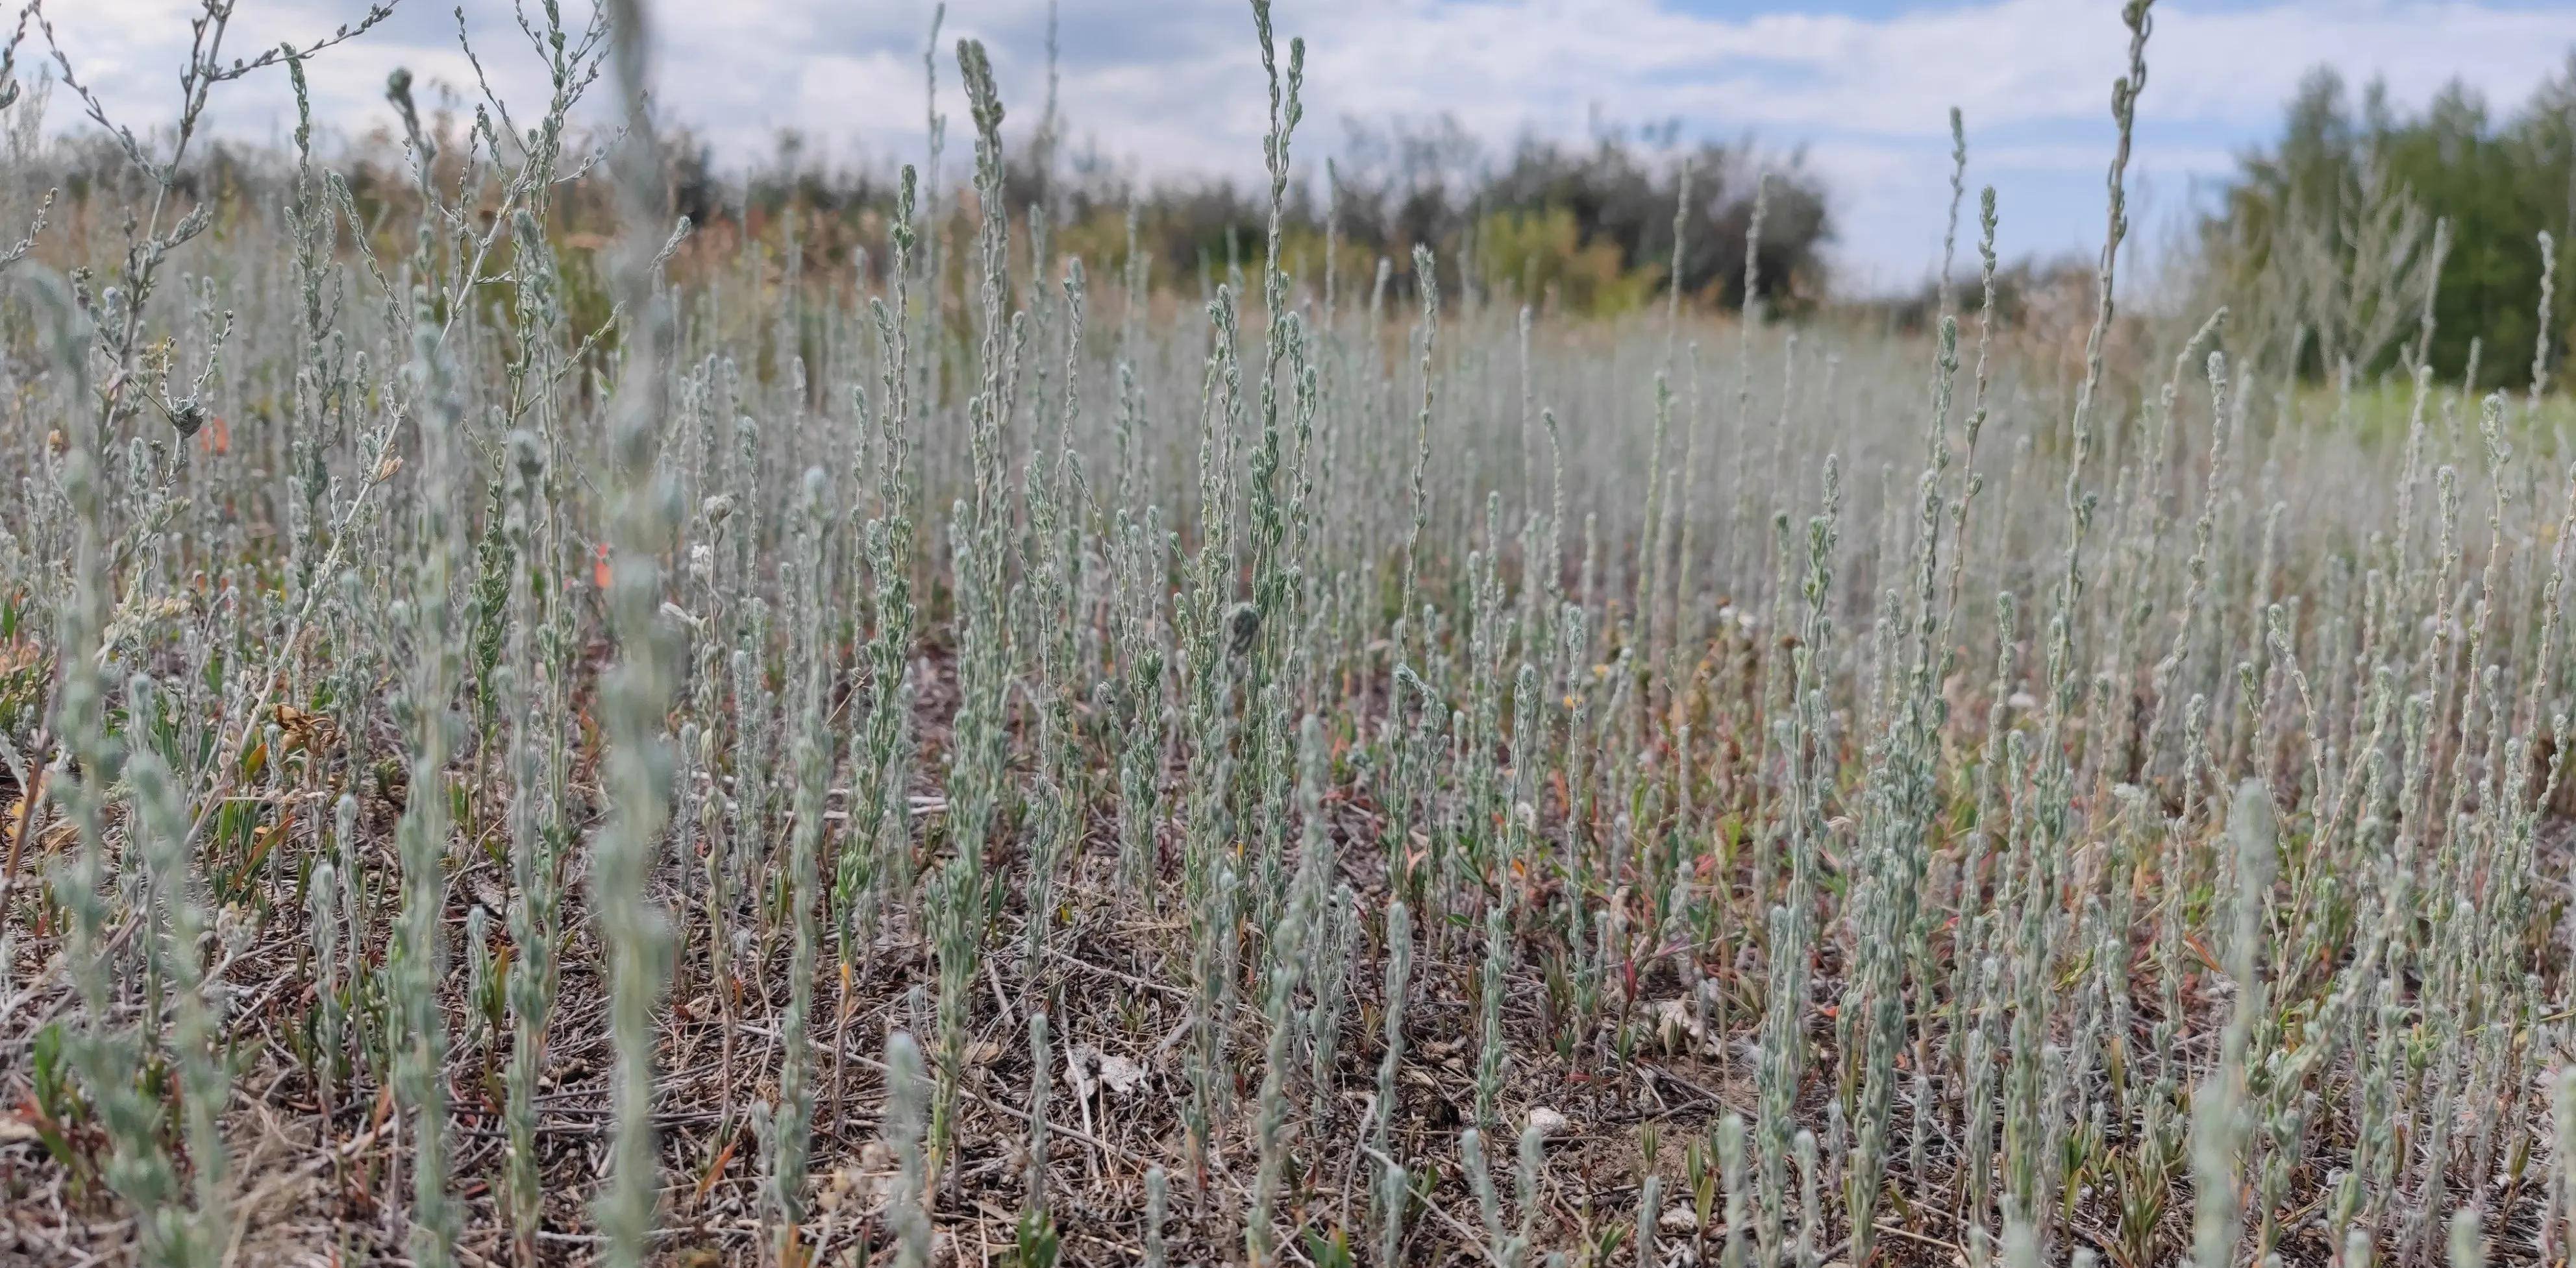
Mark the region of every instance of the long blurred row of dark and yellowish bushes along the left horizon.
[[[18, 111], [36, 119], [39, 108]], [[464, 178], [469, 119], [440, 108], [422, 119], [438, 144], [440, 188]], [[93, 198], [113, 201], [129, 180], [113, 142], [95, 134], [41, 144], [28, 139], [44, 186], [59, 186], [64, 224], [88, 232], [77, 214]], [[719, 152], [677, 134], [670, 144], [670, 188], [677, 214], [696, 232], [675, 268], [724, 265], [744, 242], [783, 250], [793, 240], [809, 283], [866, 263], [881, 273], [896, 198], [894, 160], [824, 155], [799, 134], [781, 134], [768, 155]], [[384, 126], [355, 134], [330, 160], [345, 175], [350, 209], [379, 253], [410, 250], [417, 191], [402, 142]], [[920, 162], [917, 157], [912, 162]], [[1618, 314], [1662, 304], [1672, 289], [1674, 224], [1682, 229], [1682, 299], [1695, 307], [1744, 304], [1747, 247], [1754, 204], [1762, 204], [1757, 296], [1795, 312], [1826, 296], [1824, 247], [1834, 222], [1821, 180], [1803, 155], [1767, 155], [1757, 144], [1685, 142], [1680, 124], [1649, 129], [1595, 126], [1582, 142], [1528, 134], [1499, 152], [1466, 134], [1455, 119], [1345, 121], [1340, 144], [1303, 139], [1301, 180], [1291, 186], [1285, 253], [1301, 283], [1321, 286], [1332, 255], [1342, 304], [1365, 304], [1378, 260], [1391, 263], [1394, 296], [1412, 294], [1412, 250], [1437, 255], [1443, 291], [1497, 304], [1540, 304], [1564, 314]], [[935, 188], [922, 188], [933, 235], [963, 245], [974, 196], [963, 186], [971, 155], [951, 142]], [[1687, 198], [1685, 198], [1687, 180]], [[222, 224], [268, 222], [294, 183], [291, 155], [278, 147], [216, 142], [180, 173], [175, 193], [229, 209]], [[1064, 147], [1046, 134], [1010, 155], [1005, 193], [1020, 222], [1015, 250], [1028, 250], [1028, 216], [1043, 216], [1051, 247], [1082, 255], [1095, 273], [1136, 253], [1159, 289], [1198, 291], [1234, 273], [1257, 276], [1267, 222], [1267, 188], [1226, 178], [1141, 180], [1097, 152]], [[1680, 214], [1680, 216], [1677, 216]], [[549, 232], [574, 247], [567, 283], [587, 314], [598, 278], [587, 247], [613, 229], [613, 198], [590, 170], [551, 201]], [[59, 235], [57, 235], [59, 237]], [[1327, 240], [1334, 245], [1327, 253]], [[502, 245], [505, 247], [505, 245]], [[44, 242], [44, 253], [62, 242]], [[948, 250], [961, 265], [966, 250]], [[966, 286], [963, 276], [953, 278]]]

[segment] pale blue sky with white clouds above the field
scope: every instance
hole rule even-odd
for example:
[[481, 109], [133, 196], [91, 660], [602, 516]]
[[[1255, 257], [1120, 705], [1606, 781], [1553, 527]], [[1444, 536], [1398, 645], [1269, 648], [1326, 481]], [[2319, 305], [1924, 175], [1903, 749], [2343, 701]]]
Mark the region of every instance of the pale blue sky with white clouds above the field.
[[[533, 3], [533, 0], [531, 0]], [[585, 0], [564, 0], [587, 10]], [[232, 52], [317, 34], [366, 0], [242, 0]], [[54, 0], [75, 70], [118, 124], [175, 113], [170, 72], [196, 0]], [[732, 152], [781, 129], [853, 162], [922, 149], [930, 0], [662, 0], [665, 103]], [[1262, 80], [1239, 0], [1061, 0], [1061, 103], [1072, 142], [1141, 175], [1260, 170]], [[1497, 152], [1525, 131], [1680, 121], [1682, 139], [1752, 137], [1806, 155], [1837, 193], [1834, 260], [1855, 289], [1932, 271], [1947, 183], [1947, 108], [1968, 116], [1971, 186], [2002, 198], [2007, 255], [2092, 250], [2102, 229], [2117, 0], [1278, 0], [1306, 36], [1298, 155], [1337, 149], [1345, 119], [1453, 116]], [[544, 98], [510, 0], [464, 0], [464, 28], [505, 101]], [[1046, 0], [953, 0], [943, 46], [992, 46], [1012, 131], [1038, 119]], [[2465, 77], [2512, 108], [2576, 49], [2576, 0], [2164, 0], [2148, 46], [2136, 173], [2141, 224], [2172, 222], [2233, 155], [2272, 134], [2313, 64], [2385, 77], [2403, 106]], [[26, 59], [21, 59], [23, 64]], [[966, 131], [953, 54], [943, 108]], [[464, 85], [453, 0], [404, 0], [314, 64], [319, 119], [384, 126], [384, 75]], [[286, 85], [229, 85], [219, 126], [270, 137]], [[57, 95], [52, 119], [75, 126]], [[958, 147], [951, 149], [956, 155]]]

